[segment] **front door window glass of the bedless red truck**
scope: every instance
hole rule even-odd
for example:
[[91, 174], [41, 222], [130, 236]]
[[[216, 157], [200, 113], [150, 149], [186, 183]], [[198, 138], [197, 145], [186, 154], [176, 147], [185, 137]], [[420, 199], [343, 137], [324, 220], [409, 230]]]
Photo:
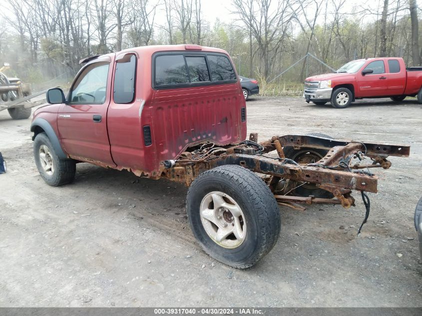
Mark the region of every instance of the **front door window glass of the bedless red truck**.
[[108, 62], [94, 62], [76, 78], [70, 91], [71, 104], [103, 104], [105, 102]]

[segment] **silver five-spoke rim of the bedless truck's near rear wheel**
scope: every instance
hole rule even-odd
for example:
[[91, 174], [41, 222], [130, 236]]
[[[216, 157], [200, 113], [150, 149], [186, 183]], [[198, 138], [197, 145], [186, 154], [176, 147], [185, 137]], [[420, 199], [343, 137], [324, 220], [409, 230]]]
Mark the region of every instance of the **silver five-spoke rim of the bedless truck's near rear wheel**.
[[246, 221], [236, 201], [219, 191], [201, 201], [200, 215], [207, 235], [224, 248], [239, 247], [246, 237]]

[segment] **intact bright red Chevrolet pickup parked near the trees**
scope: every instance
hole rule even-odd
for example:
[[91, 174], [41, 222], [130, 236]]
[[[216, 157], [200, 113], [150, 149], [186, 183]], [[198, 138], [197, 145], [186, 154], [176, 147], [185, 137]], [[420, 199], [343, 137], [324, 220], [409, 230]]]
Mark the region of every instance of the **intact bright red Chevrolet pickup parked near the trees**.
[[400, 102], [418, 96], [422, 104], [422, 67], [406, 68], [398, 57], [353, 60], [334, 73], [306, 78], [303, 96], [308, 103], [331, 102], [339, 109], [364, 98], [389, 97]]

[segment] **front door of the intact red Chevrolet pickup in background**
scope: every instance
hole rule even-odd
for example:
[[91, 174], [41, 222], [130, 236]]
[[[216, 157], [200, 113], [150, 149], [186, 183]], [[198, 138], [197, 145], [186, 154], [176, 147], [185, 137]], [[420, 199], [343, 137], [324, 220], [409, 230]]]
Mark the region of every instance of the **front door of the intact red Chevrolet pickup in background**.
[[[362, 74], [363, 70], [373, 69], [373, 73]], [[384, 60], [370, 62], [361, 72], [358, 73], [359, 96], [384, 96], [388, 94], [388, 75]]]

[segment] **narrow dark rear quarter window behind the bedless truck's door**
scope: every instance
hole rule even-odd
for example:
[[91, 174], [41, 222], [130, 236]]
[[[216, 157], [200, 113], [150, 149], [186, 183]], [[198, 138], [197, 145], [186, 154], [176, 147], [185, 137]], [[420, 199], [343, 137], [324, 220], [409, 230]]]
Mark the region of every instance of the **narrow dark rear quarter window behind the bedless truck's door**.
[[135, 96], [136, 56], [128, 54], [116, 62], [113, 99], [115, 103], [130, 103]]

